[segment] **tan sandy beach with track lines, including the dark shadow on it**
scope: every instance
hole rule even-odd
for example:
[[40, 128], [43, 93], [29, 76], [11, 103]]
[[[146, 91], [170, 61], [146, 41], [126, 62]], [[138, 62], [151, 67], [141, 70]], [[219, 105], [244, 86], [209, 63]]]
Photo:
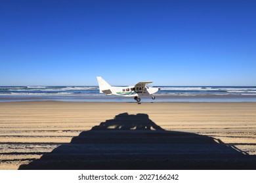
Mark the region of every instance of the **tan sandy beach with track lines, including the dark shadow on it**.
[[255, 169], [256, 103], [0, 103], [0, 136], [0, 169]]

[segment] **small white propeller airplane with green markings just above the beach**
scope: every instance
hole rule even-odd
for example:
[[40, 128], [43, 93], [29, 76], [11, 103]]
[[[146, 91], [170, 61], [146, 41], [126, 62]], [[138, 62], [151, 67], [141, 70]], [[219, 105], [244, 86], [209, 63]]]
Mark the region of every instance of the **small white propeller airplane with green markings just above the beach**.
[[134, 99], [139, 103], [140, 102], [140, 96], [143, 95], [151, 95], [152, 99], [156, 99], [156, 97], [153, 95], [154, 93], [158, 92], [160, 88], [153, 88], [153, 87], [147, 87], [146, 85], [149, 83], [152, 83], [152, 81], [144, 81], [144, 82], [138, 82], [135, 84], [135, 86], [110, 86], [106, 80], [104, 80], [102, 77], [97, 76], [98, 80], [98, 87], [100, 90], [100, 93], [106, 93], [106, 95], [118, 95], [123, 97], [134, 97]]

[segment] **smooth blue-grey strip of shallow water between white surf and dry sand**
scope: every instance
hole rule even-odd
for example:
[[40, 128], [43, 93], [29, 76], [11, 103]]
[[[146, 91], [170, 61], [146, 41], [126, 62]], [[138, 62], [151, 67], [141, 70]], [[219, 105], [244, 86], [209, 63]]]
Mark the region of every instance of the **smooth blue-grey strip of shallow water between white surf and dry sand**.
[[[256, 95], [155, 95], [142, 96], [143, 102], [256, 102]], [[0, 95], [0, 103], [15, 101], [69, 101], [69, 102], [135, 102], [133, 97], [120, 97], [114, 95]]]

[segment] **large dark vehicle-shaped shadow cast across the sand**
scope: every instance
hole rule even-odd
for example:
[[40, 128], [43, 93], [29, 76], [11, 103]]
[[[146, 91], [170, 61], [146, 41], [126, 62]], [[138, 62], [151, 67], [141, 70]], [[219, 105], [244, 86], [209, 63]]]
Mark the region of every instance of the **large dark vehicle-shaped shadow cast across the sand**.
[[166, 131], [148, 114], [118, 114], [19, 169], [256, 169], [219, 139]]

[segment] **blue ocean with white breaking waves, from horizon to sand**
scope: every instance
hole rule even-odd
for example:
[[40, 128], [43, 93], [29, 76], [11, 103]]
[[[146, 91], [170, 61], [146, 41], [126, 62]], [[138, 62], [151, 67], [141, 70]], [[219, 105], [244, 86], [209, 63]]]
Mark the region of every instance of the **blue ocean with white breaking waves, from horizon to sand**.
[[[256, 102], [256, 86], [154, 86], [161, 90], [142, 102]], [[0, 86], [0, 102], [85, 101], [135, 102], [133, 97], [106, 96], [98, 86]]]

